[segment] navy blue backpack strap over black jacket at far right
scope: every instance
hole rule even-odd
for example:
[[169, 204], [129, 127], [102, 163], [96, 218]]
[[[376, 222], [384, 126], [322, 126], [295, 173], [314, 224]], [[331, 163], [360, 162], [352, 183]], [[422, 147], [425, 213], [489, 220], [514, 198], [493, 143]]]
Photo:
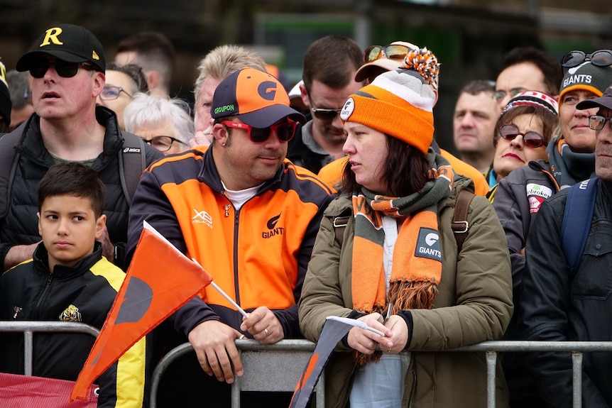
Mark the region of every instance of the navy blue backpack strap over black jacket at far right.
[[561, 245], [570, 280], [576, 275], [586, 245], [586, 238], [591, 230], [591, 219], [593, 219], [597, 194], [597, 180], [597, 177], [594, 177], [574, 184], [567, 194], [561, 224]]

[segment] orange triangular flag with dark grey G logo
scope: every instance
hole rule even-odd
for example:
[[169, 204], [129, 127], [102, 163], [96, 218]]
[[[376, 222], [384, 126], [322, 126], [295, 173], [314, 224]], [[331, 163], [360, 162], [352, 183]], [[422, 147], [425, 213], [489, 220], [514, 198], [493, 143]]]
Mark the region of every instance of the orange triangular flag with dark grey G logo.
[[99, 375], [211, 281], [208, 272], [144, 221], [125, 280], [70, 400], [87, 398], [89, 385]]

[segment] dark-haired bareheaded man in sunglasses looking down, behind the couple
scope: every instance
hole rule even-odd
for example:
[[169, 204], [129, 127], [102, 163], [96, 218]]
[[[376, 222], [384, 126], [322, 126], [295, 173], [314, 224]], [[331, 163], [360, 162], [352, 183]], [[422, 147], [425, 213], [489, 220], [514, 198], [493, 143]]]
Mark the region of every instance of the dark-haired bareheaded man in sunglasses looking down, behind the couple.
[[362, 58], [359, 45], [339, 35], [319, 38], [307, 48], [300, 92], [312, 119], [289, 143], [287, 158], [296, 165], [317, 173], [344, 156], [346, 136], [339, 114], [346, 98], [364, 86], [354, 80]]

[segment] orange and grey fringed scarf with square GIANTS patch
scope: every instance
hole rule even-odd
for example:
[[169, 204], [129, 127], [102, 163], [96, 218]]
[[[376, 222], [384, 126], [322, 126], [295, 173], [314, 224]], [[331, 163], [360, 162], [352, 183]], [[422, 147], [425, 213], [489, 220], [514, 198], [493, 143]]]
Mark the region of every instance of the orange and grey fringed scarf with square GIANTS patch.
[[[454, 173], [441, 155], [430, 150], [430, 181], [408, 197], [386, 197], [366, 188], [353, 196], [353, 308], [369, 314], [405, 309], [430, 309], [442, 275], [437, 204], [448, 197]], [[393, 250], [393, 267], [386, 292], [383, 269], [383, 216], [405, 217]], [[380, 353], [375, 353], [378, 359]], [[371, 357], [359, 354], [365, 364]]]

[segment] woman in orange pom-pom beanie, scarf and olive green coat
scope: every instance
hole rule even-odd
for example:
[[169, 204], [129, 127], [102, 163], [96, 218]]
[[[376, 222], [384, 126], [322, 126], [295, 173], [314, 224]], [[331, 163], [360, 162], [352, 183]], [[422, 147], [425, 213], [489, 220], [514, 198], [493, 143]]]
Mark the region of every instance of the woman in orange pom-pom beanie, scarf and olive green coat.
[[[437, 351], [502, 335], [512, 313], [508, 250], [493, 207], [473, 196], [458, 248], [454, 208], [474, 187], [431, 148], [437, 67], [427, 50], [408, 53], [340, 114], [349, 161], [312, 250], [300, 329], [317, 341], [326, 317], [340, 316], [384, 335], [353, 327], [339, 343], [327, 407], [487, 406], [485, 355]], [[501, 364], [497, 374], [496, 407], [507, 407]]]

